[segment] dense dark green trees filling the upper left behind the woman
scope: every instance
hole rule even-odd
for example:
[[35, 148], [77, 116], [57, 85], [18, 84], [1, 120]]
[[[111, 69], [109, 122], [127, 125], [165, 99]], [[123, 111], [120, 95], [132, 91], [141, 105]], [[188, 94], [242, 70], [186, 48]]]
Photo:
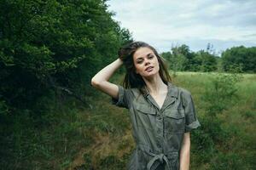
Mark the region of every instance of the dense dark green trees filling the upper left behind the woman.
[[102, 0], [4, 0], [0, 8], [0, 90], [17, 109], [50, 88], [86, 94], [90, 77], [131, 41]]

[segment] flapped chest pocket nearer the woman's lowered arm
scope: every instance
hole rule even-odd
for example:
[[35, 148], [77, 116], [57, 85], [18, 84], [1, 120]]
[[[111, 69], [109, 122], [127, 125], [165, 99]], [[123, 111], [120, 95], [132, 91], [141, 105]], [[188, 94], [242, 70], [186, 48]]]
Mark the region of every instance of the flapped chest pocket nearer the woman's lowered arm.
[[183, 110], [165, 111], [166, 132], [183, 133], [185, 128], [185, 114]]

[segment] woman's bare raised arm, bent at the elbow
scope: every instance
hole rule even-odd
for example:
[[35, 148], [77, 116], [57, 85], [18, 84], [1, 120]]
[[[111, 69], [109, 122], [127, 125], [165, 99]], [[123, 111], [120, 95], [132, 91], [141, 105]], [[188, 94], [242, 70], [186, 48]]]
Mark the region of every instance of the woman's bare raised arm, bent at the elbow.
[[113, 76], [114, 71], [118, 70], [123, 65], [121, 59], [114, 60], [111, 64], [104, 67], [101, 71], [96, 73], [91, 79], [91, 85], [103, 93], [110, 95], [114, 99], [118, 99], [119, 88], [116, 84], [108, 82], [109, 78]]

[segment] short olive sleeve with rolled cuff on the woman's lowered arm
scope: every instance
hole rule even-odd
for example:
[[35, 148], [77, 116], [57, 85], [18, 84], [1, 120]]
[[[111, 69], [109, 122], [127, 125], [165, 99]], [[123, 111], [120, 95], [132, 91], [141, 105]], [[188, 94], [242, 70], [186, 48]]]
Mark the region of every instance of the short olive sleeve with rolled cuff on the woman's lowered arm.
[[185, 133], [188, 133], [197, 127], [201, 127], [201, 123], [197, 119], [194, 100], [189, 91], [183, 91], [182, 100], [185, 111]]

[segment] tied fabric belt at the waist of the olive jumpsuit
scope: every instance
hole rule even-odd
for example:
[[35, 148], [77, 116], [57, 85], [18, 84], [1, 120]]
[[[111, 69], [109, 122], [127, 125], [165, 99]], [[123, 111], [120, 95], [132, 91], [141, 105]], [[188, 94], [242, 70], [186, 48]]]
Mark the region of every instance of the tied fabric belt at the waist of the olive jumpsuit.
[[147, 153], [149, 156], [152, 156], [152, 158], [148, 161], [147, 169], [148, 170], [155, 170], [160, 165], [163, 165], [166, 163], [165, 170], [172, 170], [170, 167], [171, 163], [175, 163], [173, 161], [169, 161], [168, 157], [171, 159], [173, 156], [178, 156], [177, 150], [171, 150], [167, 153], [161, 153], [160, 151], [151, 150], [147, 145], [144, 144], [137, 144], [138, 148], [140, 150], [143, 150], [145, 153]]

